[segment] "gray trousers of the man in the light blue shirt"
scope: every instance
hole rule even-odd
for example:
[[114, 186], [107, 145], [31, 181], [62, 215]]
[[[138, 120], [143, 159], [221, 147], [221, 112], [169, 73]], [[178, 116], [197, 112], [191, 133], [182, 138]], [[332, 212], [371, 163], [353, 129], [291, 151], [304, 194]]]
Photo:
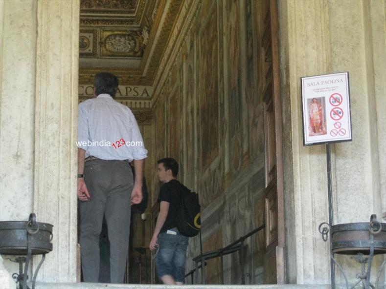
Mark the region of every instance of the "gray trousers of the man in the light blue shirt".
[[105, 215], [110, 241], [111, 283], [123, 283], [129, 248], [133, 173], [126, 161], [85, 163], [90, 200], [80, 204], [80, 250], [84, 282], [98, 282], [99, 235]]

